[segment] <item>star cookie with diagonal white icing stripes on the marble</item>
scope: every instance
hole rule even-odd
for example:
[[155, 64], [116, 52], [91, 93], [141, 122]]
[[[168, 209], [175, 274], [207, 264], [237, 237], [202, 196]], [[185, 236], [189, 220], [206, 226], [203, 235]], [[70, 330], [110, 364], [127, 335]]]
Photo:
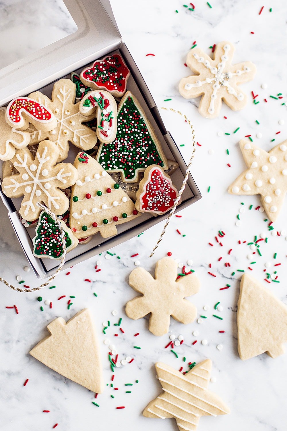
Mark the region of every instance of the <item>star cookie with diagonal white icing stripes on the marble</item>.
[[212, 362], [210, 359], [195, 365], [183, 375], [163, 362], [155, 369], [164, 390], [145, 407], [147, 418], [174, 418], [179, 431], [196, 431], [201, 416], [227, 415], [228, 406], [208, 390]]

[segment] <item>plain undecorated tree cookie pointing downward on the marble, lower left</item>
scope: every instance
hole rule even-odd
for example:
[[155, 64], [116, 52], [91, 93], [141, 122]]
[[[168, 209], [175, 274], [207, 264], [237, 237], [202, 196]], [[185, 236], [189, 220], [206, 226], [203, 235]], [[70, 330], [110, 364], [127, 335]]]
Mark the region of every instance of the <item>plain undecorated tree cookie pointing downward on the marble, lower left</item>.
[[101, 394], [102, 365], [89, 310], [83, 309], [67, 323], [58, 317], [47, 329], [50, 335], [30, 350], [30, 355], [62, 376]]

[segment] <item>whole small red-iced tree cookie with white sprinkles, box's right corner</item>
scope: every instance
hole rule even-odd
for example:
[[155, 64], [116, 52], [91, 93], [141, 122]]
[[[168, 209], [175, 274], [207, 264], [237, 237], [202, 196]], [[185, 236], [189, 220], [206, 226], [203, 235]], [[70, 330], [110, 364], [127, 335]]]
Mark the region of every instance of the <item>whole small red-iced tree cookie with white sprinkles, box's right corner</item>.
[[157, 165], [145, 169], [145, 175], [139, 183], [136, 193], [136, 209], [139, 212], [153, 212], [156, 215], [169, 211], [178, 192], [169, 175]]

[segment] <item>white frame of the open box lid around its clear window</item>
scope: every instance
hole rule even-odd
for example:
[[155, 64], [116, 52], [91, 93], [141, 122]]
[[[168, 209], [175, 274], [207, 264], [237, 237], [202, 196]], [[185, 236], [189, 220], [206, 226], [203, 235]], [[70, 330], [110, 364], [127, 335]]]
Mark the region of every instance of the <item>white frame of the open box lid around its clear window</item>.
[[77, 31], [0, 69], [0, 105], [66, 75], [71, 65], [77, 69], [120, 42], [109, 0], [64, 2]]

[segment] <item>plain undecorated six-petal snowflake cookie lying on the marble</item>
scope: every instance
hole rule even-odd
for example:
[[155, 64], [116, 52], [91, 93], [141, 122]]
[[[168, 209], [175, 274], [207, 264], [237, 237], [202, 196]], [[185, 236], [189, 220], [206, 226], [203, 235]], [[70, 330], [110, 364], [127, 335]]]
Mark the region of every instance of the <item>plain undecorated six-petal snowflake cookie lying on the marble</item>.
[[160, 259], [155, 267], [155, 277], [143, 268], [130, 273], [129, 284], [142, 294], [126, 304], [126, 314], [130, 319], [141, 319], [148, 313], [148, 329], [154, 335], [167, 334], [170, 316], [185, 325], [194, 321], [196, 307], [185, 299], [198, 292], [198, 278], [189, 274], [176, 280], [177, 263], [169, 257]]

